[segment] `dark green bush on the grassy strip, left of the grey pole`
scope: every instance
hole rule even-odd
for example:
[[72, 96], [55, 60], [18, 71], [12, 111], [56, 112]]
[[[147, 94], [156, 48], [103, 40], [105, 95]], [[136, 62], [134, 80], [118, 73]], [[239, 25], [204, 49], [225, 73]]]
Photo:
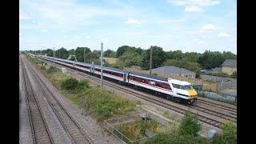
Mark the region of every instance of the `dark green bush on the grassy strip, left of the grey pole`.
[[61, 83], [62, 90], [84, 90], [85, 87], [89, 87], [89, 82], [82, 80], [78, 82], [76, 78], [66, 78]]

